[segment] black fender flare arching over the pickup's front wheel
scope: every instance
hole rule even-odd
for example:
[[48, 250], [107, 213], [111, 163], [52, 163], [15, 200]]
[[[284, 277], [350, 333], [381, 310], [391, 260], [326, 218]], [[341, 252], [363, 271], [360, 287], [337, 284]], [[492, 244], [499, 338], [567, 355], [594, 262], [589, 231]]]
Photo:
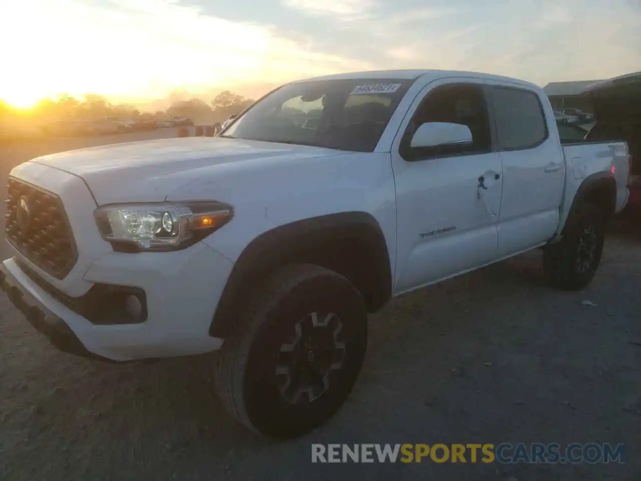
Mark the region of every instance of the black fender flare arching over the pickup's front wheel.
[[365, 243], [373, 261], [367, 273], [367, 282], [373, 289], [365, 301], [372, 311], [385, 305], [392, 295], [392, 270], [387, 241], [378, 221], [367, 212], [320, 215], [278, 226], [247, 244], [229, 274], [209, 334], [224, 338], [231, 333], [238, 301], [247, 300], [253, 294], [255, 282], [267, 273], [287, 262], [309, 262], [301, 256], [337, 239]]

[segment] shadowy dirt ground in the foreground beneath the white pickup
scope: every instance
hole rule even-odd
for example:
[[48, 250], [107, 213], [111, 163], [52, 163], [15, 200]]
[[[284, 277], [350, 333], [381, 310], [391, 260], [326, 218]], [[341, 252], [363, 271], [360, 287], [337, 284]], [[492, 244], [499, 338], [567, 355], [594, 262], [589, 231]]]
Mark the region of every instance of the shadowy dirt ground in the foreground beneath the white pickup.
[[[584, 292], [545, 287], [534, 252], [403, 296], [371, 317], [345, 407], [284, 443], [224, 414], [215, 355], [78, 359], [49, 346], [3, 295], [0, 479], [639, 481], [640, 292], [641, 228], [619, 223]], [[502, 442], [624, 443], [626, 463], [310, 462], [311, 443]]]

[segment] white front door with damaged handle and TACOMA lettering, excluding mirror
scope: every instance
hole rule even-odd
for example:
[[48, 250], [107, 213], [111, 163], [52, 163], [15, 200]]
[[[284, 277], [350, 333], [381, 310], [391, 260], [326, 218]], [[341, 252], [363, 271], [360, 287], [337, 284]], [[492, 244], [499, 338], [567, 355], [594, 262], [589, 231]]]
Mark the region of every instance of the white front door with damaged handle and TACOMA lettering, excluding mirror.
[[[447, 153], [408, 148], [424, 122], [467, 125], [472, 144]], [[485, 83], [446, 79], [415, 99], [392, 148], [397, 210], [395, 293], [493, 262], [503, 168], [488, 116]], [[479, 186], [481, 178], [483, 188]]]

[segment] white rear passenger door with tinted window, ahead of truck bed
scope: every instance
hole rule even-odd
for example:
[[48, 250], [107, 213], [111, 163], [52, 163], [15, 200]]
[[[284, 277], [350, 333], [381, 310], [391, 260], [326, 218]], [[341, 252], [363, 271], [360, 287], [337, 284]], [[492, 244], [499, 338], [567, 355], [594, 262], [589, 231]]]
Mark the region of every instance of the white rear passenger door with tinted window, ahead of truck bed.
[[507, 257], [543, 244], [556, 231], [565, 164], [552, 135], [553, 116], [545, 117], [537, 92], [496, 81], [488, 84], [503, 161], [498, 255]]

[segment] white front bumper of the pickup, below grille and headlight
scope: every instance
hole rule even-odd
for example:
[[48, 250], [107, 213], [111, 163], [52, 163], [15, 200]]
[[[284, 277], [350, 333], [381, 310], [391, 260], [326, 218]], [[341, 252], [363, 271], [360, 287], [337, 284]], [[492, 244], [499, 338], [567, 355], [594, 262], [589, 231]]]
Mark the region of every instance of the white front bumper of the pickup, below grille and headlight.
[[[94, 359], [122, 362], [195, 355], [217, 350], [222, 339], [208, 331], [233, 264], [206, 244], [168, 253], [108, 253], [84, 280], [144, 292], [142, 321], [81, 315], [69, 298], [17, 258], [0, 266], [0, 284], [28, 321], [56, 348]], [[96, 296], [85, 301], [99, 302]]]

